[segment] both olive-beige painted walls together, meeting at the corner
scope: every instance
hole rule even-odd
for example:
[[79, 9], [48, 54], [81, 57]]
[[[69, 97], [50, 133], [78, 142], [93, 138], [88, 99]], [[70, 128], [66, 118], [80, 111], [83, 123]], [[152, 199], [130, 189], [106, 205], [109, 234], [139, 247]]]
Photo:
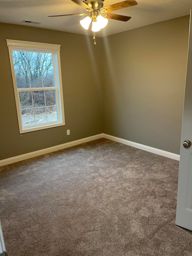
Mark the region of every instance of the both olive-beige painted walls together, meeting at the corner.
[[[188, 31], [186, 16], [95, 46], [84, 35], [0, 23], [0, 159], [102, 132], [179, 154]], [[5, 39], [61, 44], [65, 126], [19, 134]]]

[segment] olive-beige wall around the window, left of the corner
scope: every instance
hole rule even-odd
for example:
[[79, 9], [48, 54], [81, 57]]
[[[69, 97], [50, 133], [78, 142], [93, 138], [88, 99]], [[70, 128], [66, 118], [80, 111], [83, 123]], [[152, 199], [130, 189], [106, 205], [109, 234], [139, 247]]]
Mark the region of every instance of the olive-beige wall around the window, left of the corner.
[[[65, 126], [19, 134], [5, 39], [61, 44]], [[92, 37], [84, 35], [0, 23], [0, 159], [103, 132], [101, 72], [94, 57], [101, 52], [100, 42], [97, 38], [95, 46]]]

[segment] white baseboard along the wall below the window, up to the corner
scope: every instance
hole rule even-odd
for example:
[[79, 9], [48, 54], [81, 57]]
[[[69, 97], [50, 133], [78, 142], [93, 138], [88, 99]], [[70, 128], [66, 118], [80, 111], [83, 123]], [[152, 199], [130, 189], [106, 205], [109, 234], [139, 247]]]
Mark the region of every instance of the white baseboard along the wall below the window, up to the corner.
[[64, 144], [53, 146], [53, 147], [50, 147], [50, 148], [41, 149], [41, 150], [37, 150], [37, 151], [34, 151], [34, 152], [26, 153], [26, 154], [23, 154], [23, 155], [13, 156], [13, 157], [10, 157], [10, 158], [7, 158], [7, 159], [0, 160], [0, 166], [6, 165], [6, 164], [12, 164], [12, 163], [22, 161], [22, 160], [25, 160], [25, 159], [28, 159], [28, 158], [32, 158], [32, 157], [35, 157], [35, 156], [38, 156], [38, 155], [44, 155], [44, 154], [47, 154], [47, 153], [50, 153], [50, 152], [54, 152], [54, 151], [57, 151], [57, 150], [60, 150], [60, 149], [65, 149], [65, 148], [68, 148], [68, 147], [72, 147], [72, 146], [75, 146], [75, 145], [78, 145], [78, 144], [82, 144], [82, 143], [85, 143], [85, 142], [88, 142], [88, 141], [91, 141], [91, 140], [97, 140], [97, 139], [100, 139], [100, 138], [103, 138], [102, 133], [91, 136], [91, 137], [83, 138], [83, 139], [80, 139], [80, 140], [74, 140], [74, 141], [71, 141], [71, 142], [67, 142], [67, 143], [64, 143]]

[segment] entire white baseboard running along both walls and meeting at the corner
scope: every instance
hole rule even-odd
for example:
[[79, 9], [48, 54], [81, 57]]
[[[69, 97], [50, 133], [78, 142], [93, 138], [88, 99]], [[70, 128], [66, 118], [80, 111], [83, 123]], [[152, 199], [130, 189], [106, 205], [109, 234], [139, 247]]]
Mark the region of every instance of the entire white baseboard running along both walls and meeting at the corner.
[[0, 160], [0, 166], [6, 165], [6, 164], [12, 164], [12, 163], [22, 161], [22, 160], [25, 160], [25, 159], [28, 159], [28, 158], [32, 158], [32, 157], [35, 157], [35, 156], [38, 156], [38, 155], [44, 155], [44, 154], [47, 154], [47, 153], [50, 153], [50, 152], [54, 152], [54, 151], [57, 151], [57, 150], [60, 150], [60, 149], [65, 149], [65, 148], [68, 148], [68, 147], [71, 147], [71, 146], [79, 145], [79, 144], [82, 144], [82, 143], [85, 143], [85, 142], [88, 142], [88, 141], [91, 141], [91, 140], [97, 140], [97, 139], [100, 139], [100, 138], [106, 138], [106, 139], [109, 139], [109, 140], [114, 140], [116, 142], [119, 142], [119, 143], [122, 143], [122, 144], [125, 144], [125, 145], [128, 145], [128, 146], [132, 146], [132, 147], [135, 147], [137, 149], [143, 149], [145, 151], [152, 152], [152, 153], [155, 153], [157, 155], [163, 155], [163, 156], [166, 156], [168, 158], [172, 158], [172, 159], [175, 159], [175, 160], [178, 160], [178, 161], [180, 159], [180, 155], [176, 155], [176, 154], [171, 153], [171, 152], [167, 152], [167, 151], [164, 151], [164, 150], [161, 150], [161, 149], [155, 149], [155, 148], [145, 146], [145, 145], [142, 145], [142, 144], [139, 144], [139, 143], [135, 143], [135, 142], [132, 142], [132, 141], [129, 141], [129, 140], [124, 140], [124, 139], [121, 139], [121, 138], [118, 138], [118, 137], [114, 137], [114, 136], [111, 136], [111, 135], [108, 135], [108, 134], [101, 133], [101, 134], [97, 134], [97, 135], [87, 137], [87, 138], [83, 138], [83, 139], [80, 139], [80, 140], [74, 140], [74, 141], [67, 142], [67, 143], [64, 143], [64, 144], [61, 144], [61, 145], [53, 146], [53, 147], [50, 147], [50, 148], [41, 149], [41, 150], [37, 150], [37, 151], [34, 151], [34, 152], [26, 153], [26, 154], [23, 154], [23, 155], [17, 155], [17, 156], [13, 156], [13, 157], [10, 157], [10, 158], [7, 158], [7, 159], [3, 159], [3, 160]]

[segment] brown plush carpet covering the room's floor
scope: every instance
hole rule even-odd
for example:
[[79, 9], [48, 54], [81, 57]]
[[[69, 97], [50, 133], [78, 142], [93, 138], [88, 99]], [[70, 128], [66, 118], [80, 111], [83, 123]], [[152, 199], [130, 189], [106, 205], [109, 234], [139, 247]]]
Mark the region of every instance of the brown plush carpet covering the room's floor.
[[99, 139], [0, 170], [8, 256], [192, 255], [176, 160]]

